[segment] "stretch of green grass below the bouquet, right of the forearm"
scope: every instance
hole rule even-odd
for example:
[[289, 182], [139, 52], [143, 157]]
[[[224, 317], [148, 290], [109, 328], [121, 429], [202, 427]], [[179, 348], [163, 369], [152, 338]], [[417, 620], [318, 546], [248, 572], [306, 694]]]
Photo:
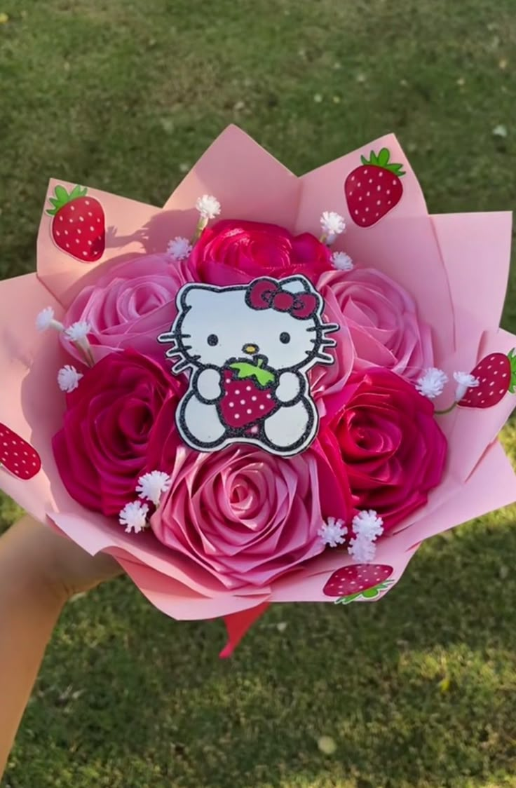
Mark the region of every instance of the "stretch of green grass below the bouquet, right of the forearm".
[[274, 606], [228, 662], [219, 623], [106, 585], [65, 612], [6, 786], [509, 784], [515, 553], [491, 515], [425, 545], [379, 604]]

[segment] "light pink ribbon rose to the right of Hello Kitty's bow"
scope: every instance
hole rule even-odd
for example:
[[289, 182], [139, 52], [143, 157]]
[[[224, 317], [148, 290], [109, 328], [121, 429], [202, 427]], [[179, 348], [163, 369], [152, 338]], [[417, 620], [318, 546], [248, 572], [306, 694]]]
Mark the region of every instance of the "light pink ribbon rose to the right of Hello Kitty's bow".
[[322, 273], [316, 286], [325, 299], [326, 318], [347, 325], [355, 370], [383, 366], [415, 380], [421, 370], [433, 366], [429, 325], [418, 318], [406, 290], [384, 273], [371, 268], [333, 270]]

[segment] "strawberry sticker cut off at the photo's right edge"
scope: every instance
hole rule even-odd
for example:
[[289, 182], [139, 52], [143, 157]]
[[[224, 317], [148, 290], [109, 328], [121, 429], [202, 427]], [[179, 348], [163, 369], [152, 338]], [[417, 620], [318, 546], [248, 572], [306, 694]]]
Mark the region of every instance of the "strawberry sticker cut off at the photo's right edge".
[[510, 392], [516, 392], [516, 355], [514, 348], [505, 353], [489, 353], [471, 372], [478, 385], [470, 386], [458, 400], [458, 407], [492, 407]]

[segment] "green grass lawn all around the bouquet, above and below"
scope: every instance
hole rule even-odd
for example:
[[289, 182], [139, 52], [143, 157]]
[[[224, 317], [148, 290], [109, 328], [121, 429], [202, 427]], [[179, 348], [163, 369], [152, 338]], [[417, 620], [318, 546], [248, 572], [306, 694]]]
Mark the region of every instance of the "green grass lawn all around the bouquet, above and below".
[[[229, 122], [298, 173], [394, 131], [430, 210], [514, 203], [514, 0], [0, 12], [2, 276], [34, 266], [49, 177], [160, 204]], [[514, 426], [505, 438], [515, 452]], [[0, 499], [4, 524], [16, 514]], [[220, 624], [165, 619], [128, 580], [80, 598], [6, 788], [516, 786], [513, 520], [433, 539], [384, 603], [273, 608], [228, 663]]]

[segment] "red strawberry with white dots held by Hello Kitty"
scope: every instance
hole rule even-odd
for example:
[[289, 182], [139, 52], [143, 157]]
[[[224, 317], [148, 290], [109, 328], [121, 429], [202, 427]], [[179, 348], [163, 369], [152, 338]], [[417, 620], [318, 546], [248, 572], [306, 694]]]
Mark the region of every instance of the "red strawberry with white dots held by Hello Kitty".
[[276, 377], [263, 366], [263, 359], [256, 363], [234, 362], [222, 370], [222, 398], [218, 403], [222, 422], [229, 429], [254, 427], [279, 407], [274, 396]]

